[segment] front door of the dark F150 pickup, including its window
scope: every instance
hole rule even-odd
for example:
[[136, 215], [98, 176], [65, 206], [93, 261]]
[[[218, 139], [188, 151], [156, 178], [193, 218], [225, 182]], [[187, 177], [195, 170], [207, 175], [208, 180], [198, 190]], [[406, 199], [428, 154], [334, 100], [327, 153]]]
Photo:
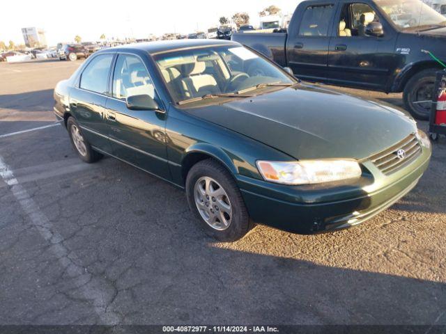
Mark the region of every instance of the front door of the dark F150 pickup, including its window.
[[[367, 35], [371, 22], [380, 22], [376, 11], [367, 3], [344, 3], [334, 22], [328, 54], [328, 82], [384, 90], [393, 56], [390, 29], [381, 37]], [[381, 22], [383, 23], [383, 22]]]

